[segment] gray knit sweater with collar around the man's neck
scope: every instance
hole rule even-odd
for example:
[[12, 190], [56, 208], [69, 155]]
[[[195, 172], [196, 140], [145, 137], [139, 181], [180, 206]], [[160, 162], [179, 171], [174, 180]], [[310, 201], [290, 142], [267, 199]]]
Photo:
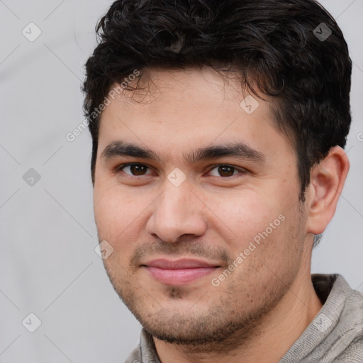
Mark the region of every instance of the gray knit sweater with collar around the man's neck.
[[[323, 308], [279, 363], [363, 363], [363, 294], [338, 274], [311, 278]], [[160, 363], [145, 330], [125, 363]]]

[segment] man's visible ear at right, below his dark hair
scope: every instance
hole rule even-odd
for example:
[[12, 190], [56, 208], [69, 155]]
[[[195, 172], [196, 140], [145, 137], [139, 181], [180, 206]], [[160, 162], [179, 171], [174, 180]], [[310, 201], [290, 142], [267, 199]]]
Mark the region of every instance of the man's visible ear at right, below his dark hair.
[[306, 194], [306, 232], [323, 233], [333, 218], [349, 170], [349, 160], [340, 146], [332, 147], [325, 159], [311, 169]]

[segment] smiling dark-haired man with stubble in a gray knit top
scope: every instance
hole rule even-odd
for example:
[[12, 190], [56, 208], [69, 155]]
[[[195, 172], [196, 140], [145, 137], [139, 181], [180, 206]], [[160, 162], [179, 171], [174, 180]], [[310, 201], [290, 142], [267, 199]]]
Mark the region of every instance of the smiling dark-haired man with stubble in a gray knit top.
[[363, 362], [311, 253], [349, 169], [351, 61], [313, 0], [116, 1], [86, 63], [94, 212], [143, 325], [126, 362]]

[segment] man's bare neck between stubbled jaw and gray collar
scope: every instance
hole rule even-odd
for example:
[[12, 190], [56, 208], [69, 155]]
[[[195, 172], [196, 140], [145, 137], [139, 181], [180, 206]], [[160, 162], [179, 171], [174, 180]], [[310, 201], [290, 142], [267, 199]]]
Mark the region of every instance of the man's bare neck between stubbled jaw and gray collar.
[[154, 338], [155, 347], [162, 363], [279, 362], [321, 307], [311, 283], [309, 265], [304, 274], [298, 274], [277, 306], [263, 316], [248, 336], [231, 337], [235, 344], [228, 352], [221, 352], [220, 347], [213, 349], [216, 345], [211, 345], [207, 351], [201, 349], [197, 352], [196, 347], [175, 345]]

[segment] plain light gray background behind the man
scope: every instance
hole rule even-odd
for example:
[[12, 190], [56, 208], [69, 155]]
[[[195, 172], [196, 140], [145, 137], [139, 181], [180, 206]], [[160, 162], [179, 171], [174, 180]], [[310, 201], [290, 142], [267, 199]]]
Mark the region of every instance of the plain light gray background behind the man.
[[[313, 252], [313, 272], [363, 284], [363, 0], [325, 0], [354, 62], [351, 169], [333, 222]], [[0, 0], [0, 362], [123, 362], [140, 325], [108, 281], [97, 245], [82, 123], [82, 66], [94, 24], [111, 1]], [[41, 35], [30, 42], [23, 28]], [[318, 25], [318, 24], [317, 24]], [[33, 29], [33, 35], [34, 35]], [[28, 30], [29, 33], [29, 30]], [[30, 186], [23, 174], [41, 179]], [[22, 325], [34, 313], [35, 333]], [[35, 320], [28, 321], [28, 327]], [[26, 323], [25, 323], [26, 325]]]

